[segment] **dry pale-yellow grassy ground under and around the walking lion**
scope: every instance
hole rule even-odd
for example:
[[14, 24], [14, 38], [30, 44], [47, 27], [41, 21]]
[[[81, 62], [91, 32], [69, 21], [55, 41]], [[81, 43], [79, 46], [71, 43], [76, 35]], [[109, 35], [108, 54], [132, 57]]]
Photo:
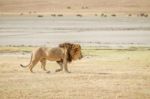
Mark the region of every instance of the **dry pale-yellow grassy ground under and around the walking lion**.
[[150, 50], [84, 50], [59, 72], [55, 62], [30, 73], [29, 53], [0, 54], [1, 99], [150, 99]]

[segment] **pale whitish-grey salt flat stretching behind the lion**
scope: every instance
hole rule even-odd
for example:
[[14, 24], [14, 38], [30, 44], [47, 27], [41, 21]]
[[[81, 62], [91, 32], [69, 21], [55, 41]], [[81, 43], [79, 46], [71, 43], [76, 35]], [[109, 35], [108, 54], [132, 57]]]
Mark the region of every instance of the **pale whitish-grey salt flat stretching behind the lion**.
[[0, 17], [0, 45], [150, 46], [150, 18]]

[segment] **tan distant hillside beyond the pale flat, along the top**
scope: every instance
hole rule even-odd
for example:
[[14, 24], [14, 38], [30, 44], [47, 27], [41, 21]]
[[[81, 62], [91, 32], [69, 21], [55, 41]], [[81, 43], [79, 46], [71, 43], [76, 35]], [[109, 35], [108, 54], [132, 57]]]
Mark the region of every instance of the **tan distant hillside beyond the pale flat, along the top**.
[[1, 13], [150, 13], [150, 0], [0, 0]]

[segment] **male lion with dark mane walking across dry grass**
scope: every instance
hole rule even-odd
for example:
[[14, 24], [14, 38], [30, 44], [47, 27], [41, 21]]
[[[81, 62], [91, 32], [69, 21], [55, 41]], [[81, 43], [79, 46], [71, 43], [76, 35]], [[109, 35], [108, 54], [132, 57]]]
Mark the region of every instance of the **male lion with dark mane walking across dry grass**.
[[62, 43], [56, 48], [37, 48], [32, 52], [30, 63], [27, 66], [23, 66], [22, 64], [20, 66], [29, 67], [30, 71], [33, 72], [33, 67], [40, 61], [41, 68], [47, 71], [45, 65], [46, 60], [49, 60], [56, 61], [59, 64], [60, 69], [57, 69], [56, 72], [62, 71], [64, 67], [65, 71], [70, 73], [67, 63], [70, 63], [72, 60], [81, 59], [82, 57], [81, 46], [79, 44]]

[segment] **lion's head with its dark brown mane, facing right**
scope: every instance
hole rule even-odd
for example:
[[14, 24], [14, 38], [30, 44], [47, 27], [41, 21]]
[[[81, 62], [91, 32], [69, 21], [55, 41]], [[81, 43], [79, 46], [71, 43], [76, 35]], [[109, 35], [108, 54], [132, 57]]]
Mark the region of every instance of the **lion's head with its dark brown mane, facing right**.
[[67, 48], [68, 62], [71, 62], [72, 60], [81, 59], [83, 57], [81, 52], [81, 46], [79, 44], [62, 43], [59, 44], [59, 47]]

